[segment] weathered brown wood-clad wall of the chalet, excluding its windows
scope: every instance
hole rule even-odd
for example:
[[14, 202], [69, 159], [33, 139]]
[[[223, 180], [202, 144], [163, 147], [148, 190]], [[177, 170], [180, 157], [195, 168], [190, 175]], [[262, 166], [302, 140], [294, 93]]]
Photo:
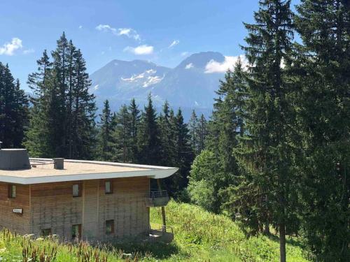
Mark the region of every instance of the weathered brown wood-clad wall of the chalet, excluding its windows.
[[[105, 192], [106, 181], [111, 182], [111, 194]], [[80, 184], [80, 196], [73, 197], [73, 184]], [[80, 239], [93, 242], [149, 232], [150, 178], [146, 176], [16, 184], [15, 198], [8, 196], [8, 187], [9, 183], [0, 182], [0, 226], [20, 234], [38, 236], [50, 229], [71, 240], [72, 226], [80, 225]], [[13, 209], [22, 209], [22, 214]], [[113, 232], [107, 234], [106, 221], [111, 220]]]

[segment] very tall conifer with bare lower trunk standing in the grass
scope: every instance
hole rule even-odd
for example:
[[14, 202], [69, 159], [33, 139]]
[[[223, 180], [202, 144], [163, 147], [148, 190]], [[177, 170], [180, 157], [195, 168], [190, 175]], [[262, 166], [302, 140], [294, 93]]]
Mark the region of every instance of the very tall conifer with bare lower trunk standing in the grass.
[[253, 232], [259, 231], [261, 223], [274, 226], [279, 231], [280, 261], [285, 262], [286, 234], [295, 233], [298, 222], [288, 128], [293, 126], [293, 108], [288, 104], [292, 90], [281, 66], [289, 63], [292, 47], [290, 1], [260, 1], [254, 18], [255, 24], [245, 24], [249, 97], [246, 135], [236, 154], [247, 173], [241, 218]]

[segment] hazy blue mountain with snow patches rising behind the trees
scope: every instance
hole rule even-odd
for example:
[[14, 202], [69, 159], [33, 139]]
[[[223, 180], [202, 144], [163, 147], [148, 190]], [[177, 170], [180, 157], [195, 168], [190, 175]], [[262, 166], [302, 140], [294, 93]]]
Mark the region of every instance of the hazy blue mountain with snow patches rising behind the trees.
[[152, 93], [157, 108], [165, 100], [176, 110], [181, 107], [186, 118], [195, 109], [197, 113], [211, 114], [215, 90], [223, 73], [208, 73], [211, 61], [222, 63], [223, 54], [200, 52], [187, 57], [175, 68], [158, 66], [144, 60], [113, 60], [90, 75], [90, 91], [97, 97], [97, 106], [109, 99], [113, 110], [123, 103], [137, 100], [140, 108]]

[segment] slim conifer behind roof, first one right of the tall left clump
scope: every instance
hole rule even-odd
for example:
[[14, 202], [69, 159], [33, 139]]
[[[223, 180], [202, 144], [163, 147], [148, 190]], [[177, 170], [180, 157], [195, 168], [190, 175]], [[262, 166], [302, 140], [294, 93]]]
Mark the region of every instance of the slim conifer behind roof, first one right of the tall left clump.
[[109, 101], [104, 101], [104, 109], [98, 123], [99, 134], [97, 139], [97, 159], [102, 161], [113, 160], [113, 122]]

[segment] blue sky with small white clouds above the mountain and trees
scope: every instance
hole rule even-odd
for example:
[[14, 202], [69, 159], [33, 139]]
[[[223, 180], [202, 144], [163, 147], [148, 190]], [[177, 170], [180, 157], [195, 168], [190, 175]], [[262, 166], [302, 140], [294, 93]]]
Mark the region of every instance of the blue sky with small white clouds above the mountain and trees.
[[[297, 1], [294, 1], [296, 3]], [[186, 56], [241, 54], [258, 0], [17, 0], [0, 8], [0, 61], [26, 87], [43, 50], [62, 31], [93, 73], [112, 59], [146, 59], [174, 67]]]

